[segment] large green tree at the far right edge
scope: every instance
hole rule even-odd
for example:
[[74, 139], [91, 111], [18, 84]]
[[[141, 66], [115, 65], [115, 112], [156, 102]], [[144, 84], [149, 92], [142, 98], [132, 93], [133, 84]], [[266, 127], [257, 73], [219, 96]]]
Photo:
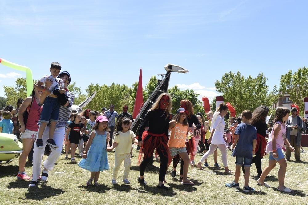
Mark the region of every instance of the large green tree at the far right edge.
[[304, 115], [304, 97], [308, 97], [308, 68], [299, 68], [294, 74], [292, 70], [280, 77], [282, 93], [290, 94], [290, 100], [300, 108], [300, 115]]

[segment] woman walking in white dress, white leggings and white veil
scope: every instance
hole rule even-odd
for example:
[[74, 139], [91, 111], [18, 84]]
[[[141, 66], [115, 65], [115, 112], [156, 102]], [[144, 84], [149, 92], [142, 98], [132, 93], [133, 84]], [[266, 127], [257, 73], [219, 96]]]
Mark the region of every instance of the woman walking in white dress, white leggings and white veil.
[[221, 103], [217, 110], [214, 113], [211, 126], [211, 135], [207, 141], [207, 143], [210, 144], [209, 151], [207, 151], [201, 158], [200, 162], [196, 165], [199, 169], [202, 169], [201, 164], [204, 162], [205, 159], [209, 157], [209, 155], [212, 155], [213, 152], [219, 148], [221, 152], [221, 160], [225, 167], [225, 173], [230, 173], [231, 171], [228, 168], [227, 164], [227, 151], [225, 147], [225, 126], [226, 123], [223, 119], [223, 117], [228, 113], [228, 107]]

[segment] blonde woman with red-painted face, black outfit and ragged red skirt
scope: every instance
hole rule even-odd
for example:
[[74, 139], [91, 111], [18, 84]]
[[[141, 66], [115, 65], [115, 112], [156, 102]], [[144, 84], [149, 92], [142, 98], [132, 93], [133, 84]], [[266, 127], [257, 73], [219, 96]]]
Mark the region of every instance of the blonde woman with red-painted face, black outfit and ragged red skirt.
[[[139, 161], [141, 160], [141, 153], [144, 153], [143, 160], [140, 164], [140, 171], [138, 182], [140, 184], [147, 184], [144, 180], [144, 170], [153, 157], [153, 152], [156, 151], [160, 157], [159, 180], [157, 188], [168, 189], [163, 184], [164, 177], [167, 171], [169, 149], [168, 143], [168, 129], [170, 121], [170, 108], [172, 107], [172, 98], [167, 93], [162, 93], [156, 99], [156, 102], [148, 110], [142, 121], [139, 129], [138, 145], [140, 149]], [[144, 131], [144, 127], [148, 124], [148, 131]]]

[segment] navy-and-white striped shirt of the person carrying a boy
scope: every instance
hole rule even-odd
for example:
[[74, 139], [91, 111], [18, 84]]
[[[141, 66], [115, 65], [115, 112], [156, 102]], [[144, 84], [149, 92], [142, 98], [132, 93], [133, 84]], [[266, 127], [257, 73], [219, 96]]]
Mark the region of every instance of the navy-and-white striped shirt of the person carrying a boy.
[[[65, 94], [68, 97], [69, 104], [66, 107], [64, 107], [60, 104], [59, 119], [58, 119], [58, 122], [56, 124], [56, 128], [65, 127], [67, 129], [67, 123], [66, 122], [67, 122], [68, 117], [70, 116], [70, 107], [74, 103], [74, 98], [75, 98], [74, 93], [67, 91]], [[39, 124], [41, 124], [41, 123], [39, 123]], [[50, 124], [51, 123], [49, 121], [49, 123], [47, 123], [47, 126], [50, 127]]]

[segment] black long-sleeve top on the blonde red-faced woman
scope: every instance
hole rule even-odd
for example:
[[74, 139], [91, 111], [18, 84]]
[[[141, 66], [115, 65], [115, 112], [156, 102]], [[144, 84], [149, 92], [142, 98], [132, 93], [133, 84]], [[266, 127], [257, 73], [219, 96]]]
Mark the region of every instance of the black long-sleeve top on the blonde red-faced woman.
[[142, 133], [144, 131], [145, 126], [149, 126], [148, 132], [153, 134], [162, 134], [165, 133], [166, 136], [168, 136], [168, 130], [169, 130], [169, 115], [166, 119], [166, 113], [165, 110], [151, 110], [149, 111], [139, 128], [139, 137], [138, 141], [141, 141], [142, 139]]

